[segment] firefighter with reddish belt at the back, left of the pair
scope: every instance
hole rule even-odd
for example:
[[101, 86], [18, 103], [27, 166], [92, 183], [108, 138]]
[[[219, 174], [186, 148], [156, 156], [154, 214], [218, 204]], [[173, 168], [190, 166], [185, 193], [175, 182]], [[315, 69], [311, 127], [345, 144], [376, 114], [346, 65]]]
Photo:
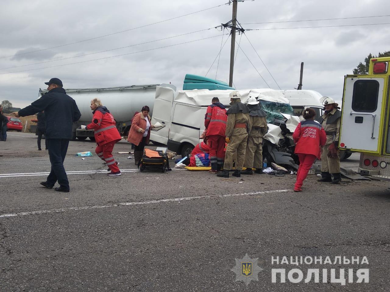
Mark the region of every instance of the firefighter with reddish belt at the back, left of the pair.
[[251, 129], [249, 108], [241, 102], [238, 91], [230, 92], [230, 109], [227, 110], [227, 123], [225, 139], [227, 144], [223, 172], [217, 176], [229, 178], [229, 170], [233, 167], [233, 155], [237, 151], [236, 170], [232, 176], [241, 176], [245, 159], [245, 148], [248, 140], [248, 132]]

